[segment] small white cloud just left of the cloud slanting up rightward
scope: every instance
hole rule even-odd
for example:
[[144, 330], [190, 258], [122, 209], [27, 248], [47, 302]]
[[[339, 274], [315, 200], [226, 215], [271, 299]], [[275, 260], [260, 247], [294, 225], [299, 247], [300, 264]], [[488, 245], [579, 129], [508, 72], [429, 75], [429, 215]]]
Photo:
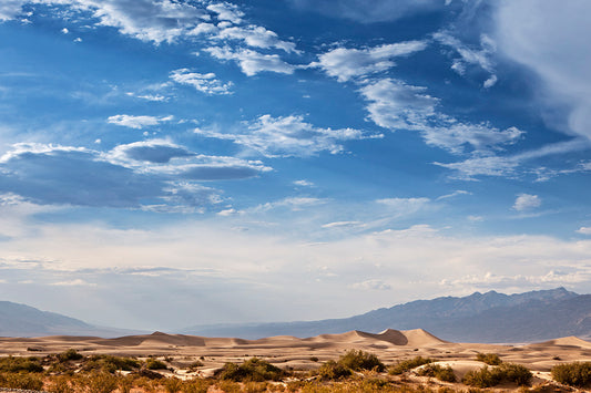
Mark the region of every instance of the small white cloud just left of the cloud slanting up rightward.
[[205, 52], [218, 60], [236, 61], [242, 72], [248, 76], [264, 71], [292, 74], [295, 70], [292, 64], [284, 62], [277, 54], [263, 54], [249, 49], [232, 50], [228, 46], [213, 46], [205, 49]]

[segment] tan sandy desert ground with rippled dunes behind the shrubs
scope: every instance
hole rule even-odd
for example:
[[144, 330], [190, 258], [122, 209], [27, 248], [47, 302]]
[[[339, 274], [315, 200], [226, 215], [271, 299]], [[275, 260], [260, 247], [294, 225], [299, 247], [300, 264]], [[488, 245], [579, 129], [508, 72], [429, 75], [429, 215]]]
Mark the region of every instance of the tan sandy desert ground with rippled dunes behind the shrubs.
[[[278, 335], [261, 340], [205, 338], [155, 332], [116, 339], [95, 337], [44, 337], [33, 339], [0, 338], [0, 355], [45, 355], [75, 349], [82, 354], [114, 354], [145, 358], [170, 356], [176, 375], [195, 360], [203, 366], [198, 375], [208, 376], [226, 362], [262, 358], [281, 368], [312, 370], [327, 360], [336, 360], [356, 349], [375, 353], [384, 363], [393, 364], [414, 356], [429, 356], [449, 364], [457, 376], [483, 365], [475, 361], [478, 352], [497, 353], [506, 362], [526, 365], [536, 381], [550, 379], [550, 369], [562, 362], [591, 360], [591, 342], [569, 337], [533, 344], [452, 343], [424, 330], [386, 330], [379, 334], [350, 331], [299, 339]], [[195, 375], [195, 374], [192, 374]], [[188, 376], [188, 375], [187, 375]]]

